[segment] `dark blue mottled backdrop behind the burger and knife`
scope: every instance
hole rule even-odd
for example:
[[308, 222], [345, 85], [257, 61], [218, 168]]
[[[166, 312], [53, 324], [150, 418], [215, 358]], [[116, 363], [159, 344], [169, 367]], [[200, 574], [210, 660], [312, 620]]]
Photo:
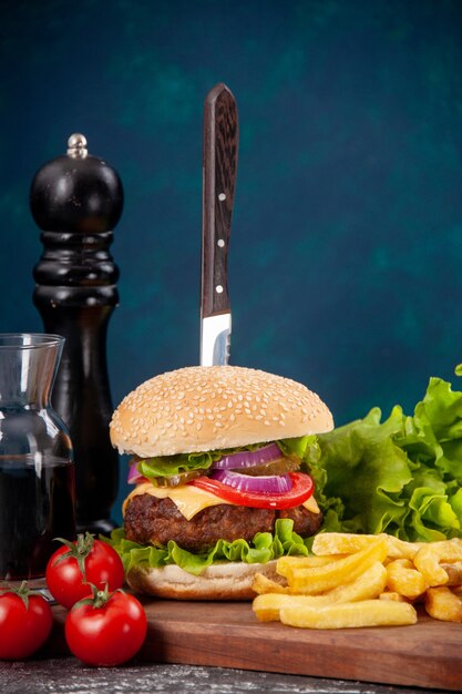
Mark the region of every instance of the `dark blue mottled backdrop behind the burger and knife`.
[[[83, 132], [120, 173], [114, 404], [198, 358], [202, 116], [239, 108], [232, 361], [338, 423], [462, 361], [462, 2], [1, 1], [0, 330], [40, 330], [29, 186]], [[123, 490], [121, 491], [123, 493]]]

